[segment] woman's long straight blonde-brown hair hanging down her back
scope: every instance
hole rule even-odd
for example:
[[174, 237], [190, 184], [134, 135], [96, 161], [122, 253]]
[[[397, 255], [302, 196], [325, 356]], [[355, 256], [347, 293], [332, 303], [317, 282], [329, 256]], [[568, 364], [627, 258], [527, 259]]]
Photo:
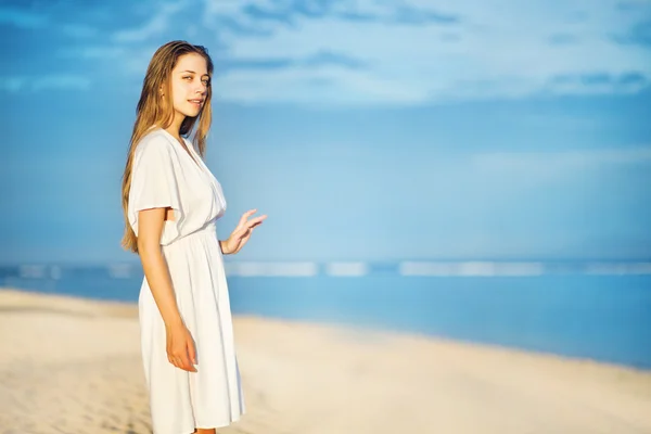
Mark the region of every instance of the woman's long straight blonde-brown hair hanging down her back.
[[[196, 53], [206, 60], [208, 75], [213, 76], [213, 61], [207, 50], [202, 46], [193, 46], [186, 41], [171, 41], [156, 50], [146, 68], [142, 92], [138, 106], [136, 108], [136, 123], [131, 132], [127, 164], [122, 179], [122, 205], [125, 217], [125, 233], [122, 240], [122, 246], [126, 251], [138, 253], [138, 238], [129, 224], [127, 213], [129, 205], [129, 190], [131, 188], [131, 166], [136, 148], [144, 135], [154, 126], [167, 128], [174, 119], [174, 105], [171, 97], [171, 71], [176, 66], [180, 56], [184, 54]], [[162, 104], [159, 89], [165, 89], [165, 104]], [[210, 128], [213, 111], [210, 107], [210, 97], [213, 92], [210, 86], [207, 87], [204, 105], [196, 117], [186, 117], [181, 124], [180, 135], [188, 136], [192, 128], [196, 126], [196, 131], [192, 143], [199, 149], [203, 157], [206, 148], [206, 136]]]

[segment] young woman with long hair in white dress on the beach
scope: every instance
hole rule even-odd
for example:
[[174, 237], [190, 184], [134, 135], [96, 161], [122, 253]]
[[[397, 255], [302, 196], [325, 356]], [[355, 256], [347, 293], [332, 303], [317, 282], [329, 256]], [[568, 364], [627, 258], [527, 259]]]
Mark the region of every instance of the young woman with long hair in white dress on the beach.
[[201, 46], [173, 41], [154, 53], [123, 178], [123, 245], [144, 270], [138, 304], [155, 434], [215, 433], [245, 411], [222, 255], [267, 216], [251, 209], [217, 239], [226, 201], [203, 162], [212, 74]]

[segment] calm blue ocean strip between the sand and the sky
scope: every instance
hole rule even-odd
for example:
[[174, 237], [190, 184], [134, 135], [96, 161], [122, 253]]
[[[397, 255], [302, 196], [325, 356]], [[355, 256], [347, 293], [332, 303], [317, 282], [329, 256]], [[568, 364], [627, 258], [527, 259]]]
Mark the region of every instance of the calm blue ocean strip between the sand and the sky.
[[[420, 333], [651, 369], [648, 265], [490, 264], [227, 264], [227, 270], [235, 315]], [[141, 281], [138, 264], [0, 267], [2, 286], [97, 299], [136, 302]]]

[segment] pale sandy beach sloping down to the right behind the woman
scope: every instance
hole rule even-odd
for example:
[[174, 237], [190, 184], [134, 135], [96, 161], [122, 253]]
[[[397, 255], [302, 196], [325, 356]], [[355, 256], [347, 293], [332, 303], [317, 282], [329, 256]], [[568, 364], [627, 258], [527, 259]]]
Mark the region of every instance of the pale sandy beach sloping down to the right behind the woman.
[[[651, 433], [651, 371], [235, 317], [222, 434]], [[0, 290], [0, 433], [151, 433], [137, 307]], [[201, 367], [199, 367], [201, 369]]]

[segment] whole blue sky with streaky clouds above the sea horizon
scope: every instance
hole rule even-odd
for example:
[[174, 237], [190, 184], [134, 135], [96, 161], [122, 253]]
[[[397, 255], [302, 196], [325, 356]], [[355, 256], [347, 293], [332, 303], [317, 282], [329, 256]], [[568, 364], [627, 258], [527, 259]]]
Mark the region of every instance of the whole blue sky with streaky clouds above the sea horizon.
[[146, 64], [216, 64], [242, 259], [651, 257], [651, 1], [0, 2], [0, 263], [135, 260]]

